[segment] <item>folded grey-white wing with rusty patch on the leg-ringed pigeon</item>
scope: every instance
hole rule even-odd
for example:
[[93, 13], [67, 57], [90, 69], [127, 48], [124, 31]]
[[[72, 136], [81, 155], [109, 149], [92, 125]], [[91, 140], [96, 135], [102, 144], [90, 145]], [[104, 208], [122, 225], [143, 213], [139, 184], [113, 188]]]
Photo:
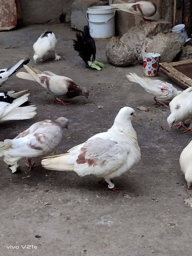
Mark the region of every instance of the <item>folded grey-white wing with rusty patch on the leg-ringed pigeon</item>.
[[[125, 162], [127, 154], [128, 152], [115, 141], [91, 138], [80, 148], [74, 171], [80, 176], [95, 174], [102, 177], [118, 169]], [[72, 164], [73, 161], [74, 158], [71, 157], [68, 163]]]

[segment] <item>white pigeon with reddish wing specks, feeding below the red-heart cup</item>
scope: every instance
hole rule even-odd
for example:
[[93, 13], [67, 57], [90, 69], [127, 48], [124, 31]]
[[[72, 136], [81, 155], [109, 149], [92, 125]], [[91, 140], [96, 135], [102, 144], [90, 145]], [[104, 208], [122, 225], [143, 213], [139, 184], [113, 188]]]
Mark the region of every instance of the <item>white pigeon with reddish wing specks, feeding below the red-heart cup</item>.
[[154, 96], [155, 102], [152, 104], [160, 104], [168, 107], [162, 100], [172, 100], [175, 96], [179, 95], [182, 91], [178, 91], [172, 84], [163, 82], [161, 80], [153, 80], [150, 78], [142, 78], [135, 73], [126, 75], [130, 82], [140, 84], [146, 92]]

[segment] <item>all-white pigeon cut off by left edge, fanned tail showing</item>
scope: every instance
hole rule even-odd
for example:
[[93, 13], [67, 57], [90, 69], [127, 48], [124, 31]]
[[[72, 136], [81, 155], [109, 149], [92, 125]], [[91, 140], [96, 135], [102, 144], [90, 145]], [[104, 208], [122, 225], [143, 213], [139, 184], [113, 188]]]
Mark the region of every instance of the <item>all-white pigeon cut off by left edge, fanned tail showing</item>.
[[27, 93], [21, 96], [18, 99], [13, 100], [13, 102], [0, 102], [0, 123], [9, 120], [22, 120], [22, 119], [30, 119], [36, 115], [36, 107], [33, 106], [26, 106], [20, 107], [23, 103], [28, 101]]

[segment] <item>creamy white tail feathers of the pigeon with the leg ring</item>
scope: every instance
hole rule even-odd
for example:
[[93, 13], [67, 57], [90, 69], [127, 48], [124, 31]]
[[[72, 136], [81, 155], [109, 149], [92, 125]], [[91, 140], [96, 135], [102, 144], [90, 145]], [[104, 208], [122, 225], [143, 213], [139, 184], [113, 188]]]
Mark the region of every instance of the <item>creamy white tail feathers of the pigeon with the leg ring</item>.
[[68, 164], [70, 154], [44, 157], [41, 161], [42, 166], [48, 170], [55, 171], [74, 171], [74, 164]]

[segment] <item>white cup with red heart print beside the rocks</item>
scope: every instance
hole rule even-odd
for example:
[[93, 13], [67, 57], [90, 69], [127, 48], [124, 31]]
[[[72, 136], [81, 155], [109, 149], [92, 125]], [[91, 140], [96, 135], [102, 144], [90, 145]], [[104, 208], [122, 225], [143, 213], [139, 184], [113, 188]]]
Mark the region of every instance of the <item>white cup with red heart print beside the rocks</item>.
[[144, 76], [157, 76], [161, 54], [148, 52], [143, 54]]

